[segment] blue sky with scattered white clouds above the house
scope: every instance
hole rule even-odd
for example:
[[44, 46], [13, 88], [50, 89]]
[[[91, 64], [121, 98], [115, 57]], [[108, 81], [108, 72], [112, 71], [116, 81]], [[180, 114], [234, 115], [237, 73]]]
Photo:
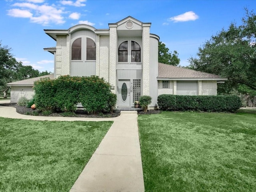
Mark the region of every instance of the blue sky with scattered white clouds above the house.
[[160, 36], [171, 52], [177, 50], [180, 65], [187, 66], [212, 35], [231, 22], [241, 24], [245, 7], [256, 8], [256, 1], [0, 0], [0, 40], [24, 65], [53, 72], [54, 56], [43, 48], [56, 42], [44, 29], [68, 29], [80, 23], [107, 29], [108, 23], [132, 16], [151, 22], [150, 33]]

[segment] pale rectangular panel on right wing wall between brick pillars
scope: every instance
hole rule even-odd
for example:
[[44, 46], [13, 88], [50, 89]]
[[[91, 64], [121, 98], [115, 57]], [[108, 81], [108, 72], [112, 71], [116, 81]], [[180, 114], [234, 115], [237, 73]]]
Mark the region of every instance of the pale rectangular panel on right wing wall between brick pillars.
[[177, 95], [197, 95], [197, 81], [177, 81]]

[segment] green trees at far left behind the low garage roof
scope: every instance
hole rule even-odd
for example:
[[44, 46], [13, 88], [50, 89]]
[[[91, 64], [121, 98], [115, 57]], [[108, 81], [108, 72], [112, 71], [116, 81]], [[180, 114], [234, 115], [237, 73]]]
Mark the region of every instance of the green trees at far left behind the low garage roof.
[[32, 66], [22, 65], [10, 51], [11, 48], [2, 46], [0, 41], [0, 91], [3, 92], [4, 98], [7, 97], [6, 93], [9, 90], [6, 83], [50, 74], [47, 71], [39, 72]]

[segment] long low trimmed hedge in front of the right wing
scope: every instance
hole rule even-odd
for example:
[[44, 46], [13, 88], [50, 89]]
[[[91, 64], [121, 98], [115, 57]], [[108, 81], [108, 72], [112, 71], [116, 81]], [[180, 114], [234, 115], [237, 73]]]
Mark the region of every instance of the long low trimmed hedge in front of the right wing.
[[188, 96], [162, 94], [158, 96], [157, 101], [160, 110], [164, 111], [234, 112], [242, 106], [240, 98], [235, 95]]

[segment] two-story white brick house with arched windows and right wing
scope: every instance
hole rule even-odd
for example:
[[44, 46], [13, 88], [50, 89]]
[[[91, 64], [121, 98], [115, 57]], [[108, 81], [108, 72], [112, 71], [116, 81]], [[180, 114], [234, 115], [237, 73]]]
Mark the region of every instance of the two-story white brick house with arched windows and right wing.
[[[56, 47], [44, 48], [54, 54], [54, 75], [50, 78], [103, 77], [117, 94], [118, 107], [132, 107], [142, 95], [152, 97], [150, 107], [157, 106], [159, 94], [216, 95], [217, 82], [226, 80], [214, 74], [158, 63], [159, 37], [150, 33], [151, 23], [128, 16], [108, 26], [108, 29], [96, 29], [79, 24], [67, 30], [44, 30], [56, 41]], [[17, 84], [8, 84], [12, 86], [12, 102], [17, 101], [15, 94], [21, 96], [22, 86]]]

